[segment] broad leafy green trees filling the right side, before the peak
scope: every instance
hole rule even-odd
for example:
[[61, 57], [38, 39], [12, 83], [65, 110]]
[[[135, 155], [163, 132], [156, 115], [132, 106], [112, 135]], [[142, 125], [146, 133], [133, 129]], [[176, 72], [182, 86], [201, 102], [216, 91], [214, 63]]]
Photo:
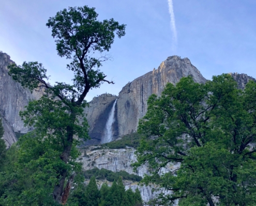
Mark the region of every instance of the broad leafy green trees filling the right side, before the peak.
[[[149, 164], [143, 181], [173, 192], [159, 196], [162, 204], [215, 205], [213, 197], [218, 205], [256, 204], [255, 100], [255, 82], [238, 90], [225, 74], [205, 84], [182, 78], [150, 96], [134, 166]], [[159, 173], [173, 163], [176, 171]]]

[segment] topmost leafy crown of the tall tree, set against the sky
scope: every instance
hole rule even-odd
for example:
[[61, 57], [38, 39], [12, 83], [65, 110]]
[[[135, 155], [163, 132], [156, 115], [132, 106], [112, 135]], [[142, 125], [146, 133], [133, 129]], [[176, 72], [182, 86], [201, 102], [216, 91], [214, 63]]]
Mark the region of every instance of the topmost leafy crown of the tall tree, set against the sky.
[[[106, 77], [98, 68], [102, 61], [109, 58], [102, 55], [97, 57], [95, 53], [109, 52], [114, 43], [115, 32], [118, 38], [125, 35], [126, 25], [119, 25], [114, 19], [100, 22], [97, 16], [95, 8], [69, 7], [68, 10], [57, 12], [46, 24], [52, 29], [53, 38], [56, 38], [58, 55], [72, 58], [67, 67], [74, 72], [74, 87], [81, 93], [85, 83], [91, 88], [98, 88]], [[93, 67], [96, 67], [96, 70], [93, 70]], [[87, 80], [84, 79], [84, 72]]]

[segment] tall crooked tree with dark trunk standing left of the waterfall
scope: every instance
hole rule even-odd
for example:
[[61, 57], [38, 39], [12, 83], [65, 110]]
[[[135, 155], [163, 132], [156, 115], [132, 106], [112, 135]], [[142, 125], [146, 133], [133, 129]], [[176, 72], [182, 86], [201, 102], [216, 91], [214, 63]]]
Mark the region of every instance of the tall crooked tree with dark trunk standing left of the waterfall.
[[48, 139], [51, 157], [61, 161], [54, 167], [57, 181], [53, 198], [62, 204], [66, 203], [70, 190], [70, 184], [64, 187], [65, 180], [70, 178], [70, 183], [73, 178], [73, 167], [70, 164], [74, 161], [70, 159], [76, 157], [72, 153], [77, 153], [76, 146], [79, 143], [74, 136], [88, 138], [86, 119], [82, 124], [80, 121], [86, 106], [84, 98], [90, 89], [100, 87], [101, 83], [113, 83], [105, 79], [106, 75], [99, 70], [102, 61], [109, 59], [102, 54], [111, 48], [115, 33], [118, 38], [125, 35], [124, 24], [120, 25], [113, 19], [101, 22], [97, 16], [95, 8], [69, 7], [48, 20], [47, 26], [52, 29], [57, 54], [71, 60], [67, 68], [74, 72], [73, 84], [56, 82], [54, 86], [49, 85], [46, 82], [47, 71], [38, 62], [9, 66], [9, 75], [23, 87], [31, 91], [38, 87], [47, 89], [41, 99], [29, 102], [21, 116], [25, 125], [35, 128], [33, 134], [27, 136], [38, 136], [41, 143]]

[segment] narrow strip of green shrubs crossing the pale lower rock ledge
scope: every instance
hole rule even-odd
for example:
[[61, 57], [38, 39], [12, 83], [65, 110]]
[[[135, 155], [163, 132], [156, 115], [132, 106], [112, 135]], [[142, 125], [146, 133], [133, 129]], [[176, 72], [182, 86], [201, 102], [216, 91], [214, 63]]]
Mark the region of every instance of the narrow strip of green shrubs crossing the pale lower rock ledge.
[[106, 179], [110, 182], [117, 180], [119, 176], [122, 176], [124, 180], [131, 180], [131, 181], [137, 181], [137, 182], [142, 180], [142, 177], [138, 175], [129, 174], [127, 173], [127, 171], [117, 171], [116, 173], [114, 173], [111, 170], [104, 169], [104, 168], [99, 169], [97, 167], [83, 171], [83, 175], [86, 179], [89, 179], [95, 176], [97, 180]]

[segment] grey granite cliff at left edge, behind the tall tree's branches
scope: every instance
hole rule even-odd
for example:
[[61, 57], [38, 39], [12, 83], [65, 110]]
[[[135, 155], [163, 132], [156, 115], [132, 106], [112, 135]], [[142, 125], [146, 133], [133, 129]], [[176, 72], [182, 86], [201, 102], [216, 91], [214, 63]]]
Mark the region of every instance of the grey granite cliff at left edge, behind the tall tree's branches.
[[31, 128], [24, 127], [19, 112], [24, 110], [30, 99], [39, 99], [43, 91], [33, 91], [22, 88], [20, 83], [12, 80], [8, 75], [9, 64], [14, 63], [10, 56], [0, 52], [0, 116], [3, 120], [5, 133], [3, 139], [9, 147], [17, 142], [14, 132], [26, 133]]

